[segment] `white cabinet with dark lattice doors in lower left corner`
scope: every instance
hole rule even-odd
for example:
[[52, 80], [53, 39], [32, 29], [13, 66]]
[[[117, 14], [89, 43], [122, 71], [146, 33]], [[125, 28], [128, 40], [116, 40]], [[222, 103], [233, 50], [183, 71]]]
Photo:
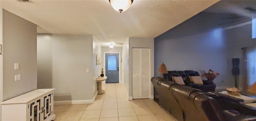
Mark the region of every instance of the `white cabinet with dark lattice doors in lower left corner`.
[[53, 90], [36, 89], [2, 102], [2, 121], [53, 121]]

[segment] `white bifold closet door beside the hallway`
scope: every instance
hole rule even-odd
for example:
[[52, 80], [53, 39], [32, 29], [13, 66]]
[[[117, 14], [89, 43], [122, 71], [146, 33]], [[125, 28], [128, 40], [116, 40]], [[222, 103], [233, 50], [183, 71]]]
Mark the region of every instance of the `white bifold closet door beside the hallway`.
[[132, 98], [150, 98], [150, 49], [132, 49]]

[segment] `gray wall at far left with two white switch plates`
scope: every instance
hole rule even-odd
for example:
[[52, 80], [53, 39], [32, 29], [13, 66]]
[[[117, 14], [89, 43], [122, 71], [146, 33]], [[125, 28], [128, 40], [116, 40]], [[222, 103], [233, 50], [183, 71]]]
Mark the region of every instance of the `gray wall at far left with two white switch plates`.
[[[37, 88], [36, 24], [3, 10], [3, 101]], [[19, 69], [14, 70], [14, 63]], [[14, 81], [20, 74], [21, 80]]]

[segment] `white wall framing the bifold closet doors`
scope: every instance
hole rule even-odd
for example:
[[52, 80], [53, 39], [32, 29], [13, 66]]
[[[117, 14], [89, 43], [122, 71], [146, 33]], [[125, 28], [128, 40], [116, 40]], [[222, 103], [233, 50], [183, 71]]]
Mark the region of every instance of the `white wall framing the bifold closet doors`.
[[[150, 48], [151, 77], [154, 76], [154, 38], [129, 38], [129, 98], [132, 97], [132, 48]], [[149, 80], [150, 81], [150, 80]], [[151, 81], [150, 81], [151, 82]], [[153, 85], [151, 83], [151, 97]]]

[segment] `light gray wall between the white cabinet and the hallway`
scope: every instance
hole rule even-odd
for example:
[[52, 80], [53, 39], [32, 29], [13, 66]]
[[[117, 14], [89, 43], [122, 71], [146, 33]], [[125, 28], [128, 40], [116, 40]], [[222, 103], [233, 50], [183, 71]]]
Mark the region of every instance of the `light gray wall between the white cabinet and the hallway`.
[[93, 65], [92, 35], [38, 34], [38, 87], [55, 88], [54, 101], [93, 99]]

